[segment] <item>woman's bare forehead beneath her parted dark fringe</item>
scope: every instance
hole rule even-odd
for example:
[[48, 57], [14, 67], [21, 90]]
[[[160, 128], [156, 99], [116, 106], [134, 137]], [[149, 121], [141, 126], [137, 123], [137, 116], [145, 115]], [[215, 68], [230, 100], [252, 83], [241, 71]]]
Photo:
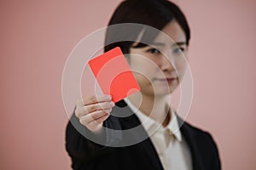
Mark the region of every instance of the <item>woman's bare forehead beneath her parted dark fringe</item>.
[[176, 20], [169, 22], [159, 35], [154, 39], [154, 42], [186, 42], [186, 36]]

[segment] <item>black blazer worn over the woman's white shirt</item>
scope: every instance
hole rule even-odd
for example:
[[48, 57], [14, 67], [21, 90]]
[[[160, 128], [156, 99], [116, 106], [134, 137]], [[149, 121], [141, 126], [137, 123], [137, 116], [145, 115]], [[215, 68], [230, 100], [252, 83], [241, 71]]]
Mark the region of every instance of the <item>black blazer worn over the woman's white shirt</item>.
[[[118, 115], [126, 115], [120, 117]], [[178, 117], [178, 123], [183, 120]], [[113, 108], [111, 116], [103, 123], [104, 127], [112, 129], [130, 129], [137, 127], [141, 122], [128, 106]], [[74, 126], [73, 126], [74, 125]], [[78, 131], [79, 129], [79, 131]], [[189, 144], [193, 170], [219, 170], [221, 169], [218, 149], [211, 135], [207, 132], [192, 127], [183, 122], [181, 133]], [[145, 130], [142, 130], [146, 133]], [[79, 119], [71, 117], [67, 124], [66, 149], [72, 159], [72, 167], [76, 170], [158, 170], [163, 169], [160, 158], [149, 138], [138, 144], [124, 147], [109, 147], [96, 144], [86, 139], [81, 133], [95, 135], [89, 129], [80, 124]], [[140, 132], [142, 133], [142, 132]], [[125, 140], [120, 134], [104, 133], [100, 138], [107, 143], [118, 143]], [[95, 138], [98, 138], [95, 136]], [[131, 134], [131, 138], [137, 138], [137, 134]]]

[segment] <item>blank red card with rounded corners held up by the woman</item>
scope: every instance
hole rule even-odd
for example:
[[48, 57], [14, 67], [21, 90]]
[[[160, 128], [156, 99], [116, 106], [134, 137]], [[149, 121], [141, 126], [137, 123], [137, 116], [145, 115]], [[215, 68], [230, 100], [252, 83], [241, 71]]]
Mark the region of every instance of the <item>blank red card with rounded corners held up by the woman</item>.
[[89, 61], [90, 69], [104, 94], [118, 102], [140, 90], [135, 77], [119, 47]]

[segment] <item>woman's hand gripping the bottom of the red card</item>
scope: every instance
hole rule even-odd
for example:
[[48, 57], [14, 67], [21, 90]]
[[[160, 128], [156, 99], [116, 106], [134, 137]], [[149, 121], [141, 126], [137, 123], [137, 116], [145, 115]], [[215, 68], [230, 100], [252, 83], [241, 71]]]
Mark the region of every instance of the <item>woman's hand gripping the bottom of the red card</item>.
[[110, 115], [113, 106], [110, 95], [85, 97], [78, 100], [75, 115], [85, 127], [96, 133], [102, 129], [102, 124]]

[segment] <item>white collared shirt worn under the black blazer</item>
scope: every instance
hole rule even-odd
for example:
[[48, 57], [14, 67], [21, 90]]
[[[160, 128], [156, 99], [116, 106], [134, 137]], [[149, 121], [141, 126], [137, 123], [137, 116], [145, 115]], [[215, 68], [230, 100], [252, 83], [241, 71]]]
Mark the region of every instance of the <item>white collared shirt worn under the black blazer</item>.
[[171, 120], [166, 127], [159, 122], [139, 111], [135, 105], [132, 105], [129, 99], [125, 99], [127, 105], [131, 108], [142, 122], [143, 127], [148, 133], [149, 138], [154, 144], [160, 161], [165, 170], [191, 170], [192, 160], [189, 146], [183, 138], [177, 123], [177, 116], [171, 111]]

